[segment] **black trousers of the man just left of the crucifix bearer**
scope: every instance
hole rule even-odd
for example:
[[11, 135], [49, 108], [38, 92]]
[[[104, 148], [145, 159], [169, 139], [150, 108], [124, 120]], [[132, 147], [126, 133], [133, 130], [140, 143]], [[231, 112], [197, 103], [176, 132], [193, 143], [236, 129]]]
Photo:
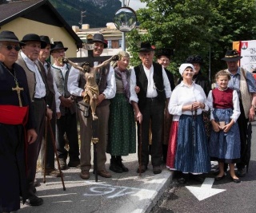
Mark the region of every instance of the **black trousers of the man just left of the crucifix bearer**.
[[[65, 148], [65, 133], [70, 146], [69, 152], [67, 152]], [[67, 110], [65, 116], [61, 116], [60, 119], [57, 120], [56, 145], [59, 158], [66, 160], [67, 154], [69, 154], [70, 161], [79, 160], [78, 124], [76, 113], [71, 114], [70, 110]]]

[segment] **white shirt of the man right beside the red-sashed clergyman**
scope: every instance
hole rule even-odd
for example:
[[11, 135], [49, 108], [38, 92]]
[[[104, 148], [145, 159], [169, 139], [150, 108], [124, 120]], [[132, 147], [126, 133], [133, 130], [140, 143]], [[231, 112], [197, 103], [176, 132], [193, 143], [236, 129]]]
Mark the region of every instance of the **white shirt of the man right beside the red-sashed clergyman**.
[[22, 51], [21, 51], [21, 56], [22, 56], [23, 60], [25, 61], [27, 68], [30, 69], [35, 74], [36, 85], [35, 85], [34, 97], [35, 98], [45, 97], [46, 96], [46, 85], [42, 80], [42, 75], [38, 69], [38, 65], [36, 64], [38, 62], [38, 60], [36, 60], [36, 61], [30, 60], [30, 58], [27, 57], [25, 55], [25, 53], [23, 53]]

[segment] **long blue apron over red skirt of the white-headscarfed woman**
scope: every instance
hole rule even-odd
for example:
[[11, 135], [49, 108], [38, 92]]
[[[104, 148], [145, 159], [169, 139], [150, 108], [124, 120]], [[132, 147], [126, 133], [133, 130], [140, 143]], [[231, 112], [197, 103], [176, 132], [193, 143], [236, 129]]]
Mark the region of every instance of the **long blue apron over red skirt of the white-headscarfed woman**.
[[202, 115], [194, 119], [192, 116], [180, 116], [174, 168], [190, 173], [210, 171], [210, 155]]

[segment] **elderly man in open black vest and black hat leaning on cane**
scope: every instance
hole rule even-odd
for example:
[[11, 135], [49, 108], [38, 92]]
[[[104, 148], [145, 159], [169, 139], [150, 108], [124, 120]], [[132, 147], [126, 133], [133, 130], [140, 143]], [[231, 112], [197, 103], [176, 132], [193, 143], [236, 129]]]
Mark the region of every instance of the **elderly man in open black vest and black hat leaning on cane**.
[[[159, 174], [162, 172], [164, 109], [170, 99], [170, 82], [162, 65], [153, 62], [154, 49], [149, 42], [142, 42], [138, 54], [142, 64], [132, 69], [130, 77], [130, 101], [132, 104], [134, 102], [138, 103], [135, 116], [137, 117], [139, 112], [142, 113], [142, 124], [137, 123], [138, 136], [142, 134], [142, 141], [138, 140], [138, 160], [141, 167], [138, 168], [137, 172], [146, 172], [149, 164], [149, 128], [151, 120], [151, 164], [153, 165], [154, 174]], [[136, 85], [140, 88], [138, 94], [134, 91]]]

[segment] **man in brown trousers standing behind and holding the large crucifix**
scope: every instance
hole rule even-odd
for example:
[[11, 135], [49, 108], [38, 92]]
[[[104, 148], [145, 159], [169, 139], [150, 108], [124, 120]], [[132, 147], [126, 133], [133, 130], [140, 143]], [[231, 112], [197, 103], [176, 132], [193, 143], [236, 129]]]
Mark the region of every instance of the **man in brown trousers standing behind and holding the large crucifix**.
[[[99, 57], [103, 49], [107, 47], [102, 34], [94, 34], [93, 37], [94, 57]], [[98, 61], [94, 61], [94, 66], [98, 65]], [[70, 83], [69, 83], [70, 82]], [[83, 97], [84, 87], [86, 85], [85, 75], [79, 72], [78, 69], [72, 68], [70, 70], [68, 86], [72, 95], [77, 97], [79, 108], [85, 108]], [[108, 120], [110, 116], [110, 99], [115, 96], [116, 84], [114, 78], [114, 69], [110, 65], [103, 66], [98, 75], [96, 75], [96, 82], [98, 84], [99, 95], [97, 99], [96, 114], [98, 116], [98, 144], [97, 144], [97, 164], [98, 175], [110, 178], [111, 173], [106, 171], [106, 141]], [[82, 179], [90, 178], [91, 168], [91, 138], [92, 138], [92, 116], [84, 116], [84, 112], [78, 111], [80, 123], [80, 138], [81, 138], [81, 173]]]

